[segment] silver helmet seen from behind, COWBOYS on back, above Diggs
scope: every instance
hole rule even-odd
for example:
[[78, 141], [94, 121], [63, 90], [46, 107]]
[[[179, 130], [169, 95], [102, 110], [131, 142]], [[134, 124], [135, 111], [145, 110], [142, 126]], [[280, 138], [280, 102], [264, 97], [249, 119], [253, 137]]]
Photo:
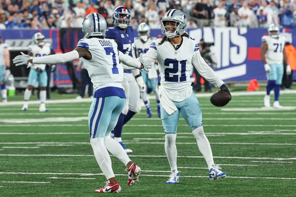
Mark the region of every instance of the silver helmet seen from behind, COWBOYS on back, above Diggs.
[[91, 13], [82, 22], [82, 32], [85, 38], [102, 35], [105, 38], [107, 22], [101, 14]]

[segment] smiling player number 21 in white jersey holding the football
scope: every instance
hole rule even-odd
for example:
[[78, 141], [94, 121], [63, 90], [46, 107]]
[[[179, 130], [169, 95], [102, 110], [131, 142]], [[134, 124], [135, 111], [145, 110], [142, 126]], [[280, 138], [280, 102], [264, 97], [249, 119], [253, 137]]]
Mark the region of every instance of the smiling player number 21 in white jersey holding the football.
[[165, 153], [171, 167], [171, 175], [166, 183], [175, 184], [180, 180], [177, 169], [176, 134], [180, 113], [196, 138], [198, 148], [204, 156], [210, 170], [211, 180], [226, 177], [219, 165], [214, 164], [210, 143], [202, 126], [200, 104], [192, 91], [190, 71], [194, 66], [207, 81], [221, 91], [229, 93], [225, 83], [215, 76], [215, 72], [200, 55], [196, 40], [185, 33], [186, 15], [178, 9], [165, 13], [161, 19], [163, 38], [153, 40], [146, 61], [158, 61], [160, 71], [160, 114], [165, 133]]

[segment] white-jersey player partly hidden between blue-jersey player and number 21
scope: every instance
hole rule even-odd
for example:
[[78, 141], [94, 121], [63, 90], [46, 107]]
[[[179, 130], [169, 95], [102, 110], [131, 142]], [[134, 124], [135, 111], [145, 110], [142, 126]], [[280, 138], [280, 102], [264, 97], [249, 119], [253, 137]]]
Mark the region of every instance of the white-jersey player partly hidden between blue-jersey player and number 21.
[[[135, 47], [138, 54], [146, 53], [152, 43], [153, 38], [150, 37], [150, 27], [146, 23], [141, 23], [138, 27], [139, 38], [135, 39]], [[142, 77], [146, 84], [147, 89], [151, 89], [156, 97], [157, 102], [157, 114], [160, 117], [160, 101], [158, 96], [158, 74], [157, 74], [157, 64], [152, 63], [152, 69], [149, 72], [143, 71]], [[147, 109], [147, 118], [152, 117], [151, 108], [149, 105], [149, 98], [147, 97], [147, 91], [141, 92], [141, 98], [144, 101], [144, 104]]]

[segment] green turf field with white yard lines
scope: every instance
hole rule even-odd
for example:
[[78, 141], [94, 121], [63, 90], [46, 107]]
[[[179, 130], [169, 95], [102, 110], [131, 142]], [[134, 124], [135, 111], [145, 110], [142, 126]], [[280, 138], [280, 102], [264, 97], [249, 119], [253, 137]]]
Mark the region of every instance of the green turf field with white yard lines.
[[[74, 97], [74, 96], [73, 96]], [[273, 99], [273, 96], [271, 96]], [[62, 98], [62, 97], [60, 97]], [[170, 167], [164, 134], [151, 100], [124, 127], [123, 140], [142, 171], [128, 188], [125, 166], [115, 157], [112, 167], [120, 194], [94, 193], [105, 177], [89, 144], [90, 102], [0, 106], [0, 196], [295, 196], [296, 110], [265, 110], [262, 95], [233, 96], [223, 108], [199, 97], [203, 123], [215, 163], [228, 178], [211, 181], [195, 138], [179, 120], [177, 149], [180, 183], [165, 184]], [[282, 94], [281, 105], [296, 106], [296, 96]]]

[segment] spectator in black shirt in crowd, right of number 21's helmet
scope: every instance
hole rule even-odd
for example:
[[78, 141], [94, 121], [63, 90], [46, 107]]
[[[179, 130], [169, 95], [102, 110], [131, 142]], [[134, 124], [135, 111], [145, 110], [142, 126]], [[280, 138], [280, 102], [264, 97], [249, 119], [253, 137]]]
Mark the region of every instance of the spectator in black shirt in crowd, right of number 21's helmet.
[[196, 4], [193, 13], [194, 17], [197, 18], [198, 27], [208, 26], [209, 15], [207, 12], [207, 5], [204, 3], [204, 0], [200, 0], [200, 2]]

